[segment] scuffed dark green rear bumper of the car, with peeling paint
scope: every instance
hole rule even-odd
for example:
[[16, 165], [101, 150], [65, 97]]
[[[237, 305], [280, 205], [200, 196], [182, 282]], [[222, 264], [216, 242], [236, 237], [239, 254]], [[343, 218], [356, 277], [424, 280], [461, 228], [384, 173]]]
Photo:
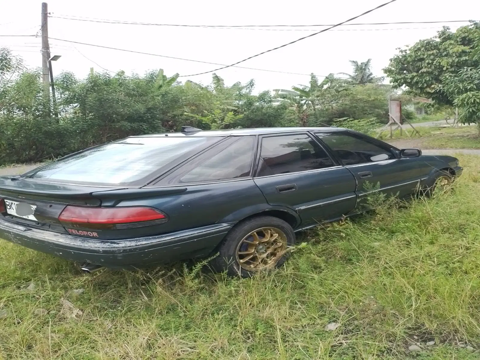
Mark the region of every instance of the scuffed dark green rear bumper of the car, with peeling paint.
[[125, 240], [93, 240], [28, 228], [0, 219], [0, 238], [71, 261], [133, 269], [207, 256], [233, 225], [214, 224]]

